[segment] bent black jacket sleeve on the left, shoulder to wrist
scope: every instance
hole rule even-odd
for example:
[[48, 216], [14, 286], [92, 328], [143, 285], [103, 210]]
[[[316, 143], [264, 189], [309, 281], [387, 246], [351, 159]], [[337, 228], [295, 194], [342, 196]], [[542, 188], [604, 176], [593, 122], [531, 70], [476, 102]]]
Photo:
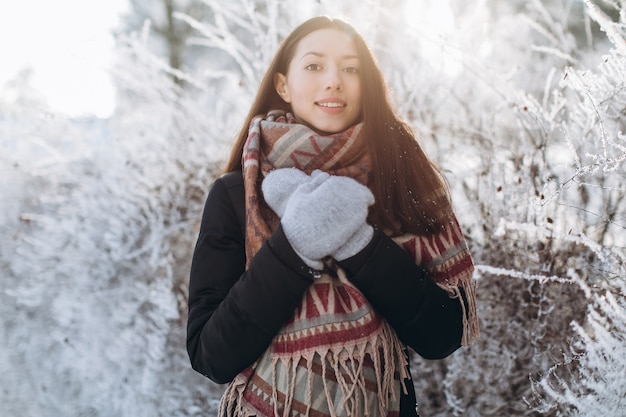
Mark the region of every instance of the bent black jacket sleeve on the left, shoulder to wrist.
[[241, 187], [234, 192], [243, 193], [240, 177], [221, 178], [206, 200], [191, 264], [187, 321], [192, 367], [220, 384], [261, 356], [313, 282], [280, 228], [245, 270], [237, 219], [243, 208], [233, 206], [228, 187]]

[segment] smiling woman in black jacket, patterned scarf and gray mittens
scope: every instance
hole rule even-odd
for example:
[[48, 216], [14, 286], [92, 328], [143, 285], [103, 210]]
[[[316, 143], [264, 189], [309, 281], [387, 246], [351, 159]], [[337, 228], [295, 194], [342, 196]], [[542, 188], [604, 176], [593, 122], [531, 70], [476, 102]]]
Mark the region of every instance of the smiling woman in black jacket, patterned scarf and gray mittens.
[[189, 286], [192, 366], [220, 416], [415, 416], [406, 346], [478, 335], [440, 172], [372, 54], [316, 17], [280, 46], [211, 188]]

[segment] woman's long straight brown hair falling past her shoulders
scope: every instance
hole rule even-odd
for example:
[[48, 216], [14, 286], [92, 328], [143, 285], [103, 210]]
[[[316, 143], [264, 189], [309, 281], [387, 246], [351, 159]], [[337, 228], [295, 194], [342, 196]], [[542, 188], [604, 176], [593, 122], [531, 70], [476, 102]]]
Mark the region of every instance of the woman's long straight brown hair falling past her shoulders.
[[395, 114], [383, 74], [362, 36], [340, 19], [314, 17], [283, 41], [261, 81], [225, 171], [241, 170], [243, 147], [254, 116], [273, 109], [290, 110], [274, 88], [274, 74], [286, 74], [300, 40], [320, 29], [348, 33], [360, 60], [361, 86], [367, 88], [367, 94], [362, 94], [362, 131], [372, 161], [368, 186], [376, 200], [369, 222], [394, 235], [439, 232], [452, 213], [445, 178], [419, 146], [411, 128]]

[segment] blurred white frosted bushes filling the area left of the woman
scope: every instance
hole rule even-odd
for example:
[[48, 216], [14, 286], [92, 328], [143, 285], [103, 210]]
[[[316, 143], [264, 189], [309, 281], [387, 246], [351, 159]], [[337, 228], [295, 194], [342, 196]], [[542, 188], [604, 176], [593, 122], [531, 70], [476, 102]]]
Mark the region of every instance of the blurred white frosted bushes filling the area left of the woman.
[[2, 415], [201, 411], [183, 401], [203, 378], [188, 370], [181, 311], [198, 207], [227, 139], [208, 125], [225, 122], [219, 103], [181, 99], [141, 42], [120, 43], [132, 99], [111, 120], [69, 120], [31, 99], [3, 106]]

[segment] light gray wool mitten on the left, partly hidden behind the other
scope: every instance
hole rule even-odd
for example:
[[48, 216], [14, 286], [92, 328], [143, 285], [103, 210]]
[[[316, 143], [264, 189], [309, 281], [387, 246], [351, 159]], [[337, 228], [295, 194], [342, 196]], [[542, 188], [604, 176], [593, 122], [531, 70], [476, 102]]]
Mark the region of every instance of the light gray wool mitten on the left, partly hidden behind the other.
[[265, 202], [278, 217], [283, 217], [291, 194], [299, 185], [310, 180], [307, 174], [296, 168], [275, 169], [261, 183]]

